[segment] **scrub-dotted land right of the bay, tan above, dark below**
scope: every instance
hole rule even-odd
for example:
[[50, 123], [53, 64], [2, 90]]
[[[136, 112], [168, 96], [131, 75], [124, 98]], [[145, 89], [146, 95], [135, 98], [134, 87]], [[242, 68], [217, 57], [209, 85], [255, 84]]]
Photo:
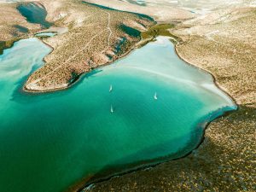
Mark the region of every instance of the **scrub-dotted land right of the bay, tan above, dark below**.
[[[218, 88], [239, 105], [238, 110], [212, 120], [201, 145], [182, 159], [112, 177], [84, 191], [255, 189], [252, 170], [256, 126], [255, 41], [250, 37], [253, 37], [252, 26], [256, 23], [252, 20], [251, 9], [236, 9], [236, 15], [219, 23], [222, 14], [218, 12], [207, 17], [212, 25], [201, 26], [198, 25], [201, 20], [191, 20], [175, 29], [174, 34], [182, 37], [185, 43], [176, 45], [175, 49], [183, 61], [210, 73]], [[217, 20], [217, 24], [212, 20]], [[238, 32], [237, 29], [243, 30]], [[250, 54], [245, 55], [245, 50]]]

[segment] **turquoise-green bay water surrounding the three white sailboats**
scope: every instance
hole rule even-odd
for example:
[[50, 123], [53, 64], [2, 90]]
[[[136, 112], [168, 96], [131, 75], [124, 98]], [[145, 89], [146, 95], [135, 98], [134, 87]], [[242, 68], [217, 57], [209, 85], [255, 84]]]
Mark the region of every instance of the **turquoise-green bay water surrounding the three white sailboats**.
[[183, 156], [201, 141], [201, 125], [236, 108], [209, 74], [179, 60], [166, 38], [68, 90], [22, 92], [50, 51], [29, 38], [0, 55], [1, 191], [63, 191], [109, 166]]

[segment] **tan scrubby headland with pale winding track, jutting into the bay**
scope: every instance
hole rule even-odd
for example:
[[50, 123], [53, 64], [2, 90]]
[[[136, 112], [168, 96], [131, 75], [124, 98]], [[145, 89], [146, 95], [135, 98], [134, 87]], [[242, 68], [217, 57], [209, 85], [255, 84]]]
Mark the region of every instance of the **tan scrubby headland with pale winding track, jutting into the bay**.
[[[48, 10], [49, 1], [44, 1]], [[101, 8], [79, 1], [62, 1], [48, 18], [69, 32], [45, 39], [54, 50], [46, 64], [26, 82], [26, 90], [67, 88], [81, 73], [114, 61], [140, 40], [140, 31], [154, 24], [143, 15]], [[55, 15], [55, 17], [53, 17]]]

